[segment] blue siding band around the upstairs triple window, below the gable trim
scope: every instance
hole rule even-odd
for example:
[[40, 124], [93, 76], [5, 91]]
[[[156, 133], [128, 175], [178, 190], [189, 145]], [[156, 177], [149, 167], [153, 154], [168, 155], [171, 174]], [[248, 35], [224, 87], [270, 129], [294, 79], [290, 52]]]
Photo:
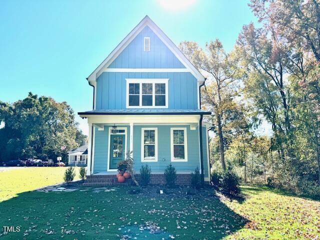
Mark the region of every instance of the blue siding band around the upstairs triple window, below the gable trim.
[[197, 81], [190, 72], [103, 72], [96, 80], [96, 109], [125, 109], [125, 78], [168, 78], [168, 108], [197, 109]]

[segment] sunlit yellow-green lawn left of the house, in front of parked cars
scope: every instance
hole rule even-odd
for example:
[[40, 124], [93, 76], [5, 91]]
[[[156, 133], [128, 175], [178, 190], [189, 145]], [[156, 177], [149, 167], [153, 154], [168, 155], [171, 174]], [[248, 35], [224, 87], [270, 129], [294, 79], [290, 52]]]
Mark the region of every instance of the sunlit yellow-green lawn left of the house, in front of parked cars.
[[[3, 169], [3, 171], [0, 171], [0, 201], [7, 200], [21, 192], [63, 182], [63, 174], [66, 167], [17, 167]], [[75, 171], [74, 180], [79, 179], [78, 167], [76, 167]]]

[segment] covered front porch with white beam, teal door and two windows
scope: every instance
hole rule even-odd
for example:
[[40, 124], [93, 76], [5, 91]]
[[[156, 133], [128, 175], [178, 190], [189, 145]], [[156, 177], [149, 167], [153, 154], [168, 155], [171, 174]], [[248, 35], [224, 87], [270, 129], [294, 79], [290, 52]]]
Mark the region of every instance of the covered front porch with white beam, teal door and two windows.
[[[201, 122], [199, 127], [200, 114], [100, 114], [85, 117], [89, 124], [87, 175], [115, 176], [116, 162], [125, 159], [130, 151], [136, 173], [141, 165], [151, 167], [151, 184], [165, 183], [163, 172], [170, 163], [176, 168], [178, 184], [188, 184], [196, 167], [200, 171], [203, 169], [204, 180], [209, 181], [207, 129], [210, 125]], [[173, 133], [179, 134], [180, 142], [173, 143]], [[201, 147], [199, 139], [203, 142]]]

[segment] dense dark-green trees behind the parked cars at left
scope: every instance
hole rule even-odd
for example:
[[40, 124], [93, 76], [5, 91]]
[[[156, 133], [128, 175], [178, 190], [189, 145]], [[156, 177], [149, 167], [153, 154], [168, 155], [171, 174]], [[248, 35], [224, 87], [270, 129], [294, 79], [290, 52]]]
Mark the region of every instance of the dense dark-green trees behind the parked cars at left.
[[66, 102], [29, 92], [12, 104], [0, 101], [0, 161], [24, 157], [51, 158], [83, 143], [74, 113]]

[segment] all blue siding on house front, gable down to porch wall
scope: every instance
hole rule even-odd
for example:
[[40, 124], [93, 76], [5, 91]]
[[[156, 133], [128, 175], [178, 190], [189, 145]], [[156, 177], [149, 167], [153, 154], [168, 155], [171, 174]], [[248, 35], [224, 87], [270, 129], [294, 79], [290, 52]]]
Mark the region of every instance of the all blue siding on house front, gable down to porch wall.
[[[154, 29], [156, 33], [153, 32], [149, 26]], [[134, 35], [136, 34], [135, 37], [130, 40], [127, 45], [123, 45], [122, 47], [120, 43], [119, 49], [122, 49], [120, 53], [116, 52], [114, 56], [112, 56], [111, 53], [111, 63], [109, 65], [105, 64], [101, 70], [96, 71], [98, 73], [94, 76], [94, 80], [96, 81], [95, 109], [126, 109], [126, 78], [168, 79], [167, 108], [171, 109], [173, 114], [177, 113], [179, 109], [199, 109], [198, 80], [202, 78], [190, 70], [192, 67], [190, 68], [189, 62], [181, 57], [180, 53], [176, 52], [178, 50], [172, 47], [171, 43], [168, 44], [166, 36], [159, 32], [152, 24], [142, 25], [141, 28], [136, 29], [141, 30], [139, 30], [138, 33], [134, 33]], [[144, 37], [149, 37], [150, 39], [149, 51], [144, 51]], [[160, 38], [166, 39], [166, 43], [162, 42]], [[173, 52], [170, 49], [173, 49]], [[186, 66], [189, 67], [186, 68]], [[153, 68], [155, 70], [153, 70]], [[136, 110], [136, 108], [134, 109]], [[133, 126], [133, 146], [131, 146], [131, 148], [133, 150], [134, 166], [137, 173], [142, 164], [148, 164], [153, 173], [163, 173], [169, 163], [172, 163], [179, 173], [189, 173], [194, 171], [196, 167], [200, 168], [199, 129], [198, 127], [195, 127], [194, 130], [190, 129], [190, 125], [196, 124], [195, 120], [190, 123], [182, 123], [182, 121], [179, 122], [179, 118], [175, 119], [177, 119], [177, 122], [174, 121], [174, 123], [168, 121], [165, 124], [157, 124], [151, 121], [149, 124], [152, 125]], [[103, 124], [103, 122], [98, 123]], [[133, 122], [133, 124], [135, 123], [139, 122]], [[114, 124], [117, 125], [117, 122], [114, 122]], [[126, 150], [129, 150], [130, 126], [128, 123], [125, 124], [127, 124], [124, 126], [126, 127]], [[110, 144], [109, 127], [110, 126], [105, 125], [103, 130], [98, 130], [94, 127], [94, 144], [92, 146], [94, 173], [107, 171], [108, 148]], [[119, 125], [119, 127], [123, 127], [123, 125]], [[142, 127], [157, 128], [158, 154], [156, 162], [141, 161]], [[187, 161], [171, 161], [171, 127], [185, 127], [187, 129]], [[204, 177], [207, 177], [209, 169], [206, 127], [202, 127], [202, 146]]]

